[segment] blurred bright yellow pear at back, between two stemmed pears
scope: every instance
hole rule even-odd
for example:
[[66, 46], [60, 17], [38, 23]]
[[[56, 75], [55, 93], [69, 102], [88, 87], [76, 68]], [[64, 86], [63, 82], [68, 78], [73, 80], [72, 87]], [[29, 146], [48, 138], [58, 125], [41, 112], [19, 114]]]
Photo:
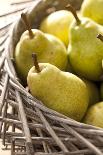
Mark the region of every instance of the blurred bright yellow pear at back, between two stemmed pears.
[[58, 37], [66, 46], [69, 43], [69, 27], [73, 16], [67, 10], [59, 10], [48, 15], [40, 25], [40, 30]]

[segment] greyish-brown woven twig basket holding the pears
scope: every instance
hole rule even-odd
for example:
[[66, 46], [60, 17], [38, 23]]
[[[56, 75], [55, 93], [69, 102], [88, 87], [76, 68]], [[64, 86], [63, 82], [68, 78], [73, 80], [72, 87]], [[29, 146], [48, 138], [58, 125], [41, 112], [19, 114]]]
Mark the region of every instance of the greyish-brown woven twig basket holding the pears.
[[[50, 11], [65, 9], [68, 3], [79, 9], [82, 0], [35, 0], [26, 11], [32, 28], [38, 28]], [[6, 43], [5, 103], [0, 109], [4, 144], [11, 146], [12, 155], [103, 155], [102, 129], [45, 107], [20, 84], [12, 58], [24, 31], [19, 18]]]

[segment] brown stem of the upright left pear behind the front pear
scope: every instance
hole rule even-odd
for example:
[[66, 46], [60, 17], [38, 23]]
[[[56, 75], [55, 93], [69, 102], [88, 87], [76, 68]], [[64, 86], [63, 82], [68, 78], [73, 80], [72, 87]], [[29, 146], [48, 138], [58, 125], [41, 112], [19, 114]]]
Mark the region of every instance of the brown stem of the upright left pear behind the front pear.
[[25, 13], [22, 13], [21, 18], [23, 19], [23, 21], [24, 21], [24, 23], [26, 25], [26, 28], [29, 31], [29, 36], [32, 39], [34, 37], [34, 34], [33, 34], [32, 30], [31, 30], [31, 26], [30, 26], [30, 23], [29, 23], [29, 21], [27, 19], [27, 15]]

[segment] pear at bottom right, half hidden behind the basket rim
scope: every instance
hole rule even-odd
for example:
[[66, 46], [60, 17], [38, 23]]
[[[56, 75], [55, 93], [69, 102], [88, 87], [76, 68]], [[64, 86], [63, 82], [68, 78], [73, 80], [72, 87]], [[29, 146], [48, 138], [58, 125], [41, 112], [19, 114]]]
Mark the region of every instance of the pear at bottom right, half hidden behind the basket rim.
[[103, 102], [92, 105], [88, 109], [83, 122], [103, 128]]

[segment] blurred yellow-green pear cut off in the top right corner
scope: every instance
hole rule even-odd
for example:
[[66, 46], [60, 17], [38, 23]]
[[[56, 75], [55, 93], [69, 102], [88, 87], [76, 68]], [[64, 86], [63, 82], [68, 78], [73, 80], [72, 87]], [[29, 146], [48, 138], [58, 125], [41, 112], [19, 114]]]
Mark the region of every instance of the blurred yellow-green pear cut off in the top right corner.
[[81, 14], [103, 25], [103, 0], [84, 0]]

